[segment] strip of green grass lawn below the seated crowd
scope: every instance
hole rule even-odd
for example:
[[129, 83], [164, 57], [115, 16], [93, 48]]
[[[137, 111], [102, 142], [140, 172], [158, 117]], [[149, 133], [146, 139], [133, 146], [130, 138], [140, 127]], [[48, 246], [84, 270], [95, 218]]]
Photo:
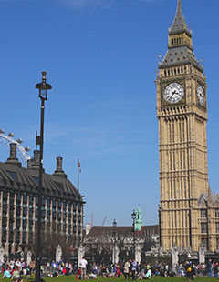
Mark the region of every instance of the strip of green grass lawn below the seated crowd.
[[[75, 276], [61, 276], [61, 277], [45, 277], [44, 278], [47, 282], [70, 282], [70, 281], [75, 281], [76, 278]], [[8, 280], [8, 279], [7, 279]], [[99, 278], [99, 282], [124, 282], [126, 281], [124, 277], [120, 277], [120, 278]], [[152, 281], [152, 282], [164, 282], [164, 281], [170, 281], [170, 282], [180, 282], [180, 281], [187, 281], [185, 277], [152, 277], [150, 280], [142, 280], [142, 281]], [[90, 280], [92, 281], [92, 280]], [[132, 280], [130, 279], [130, 282]], [[141, 280], [136, 280], [136, 281], [141, 281]], [[217, 278], [209, 278], [209, 277], [194, 277], [194, 281], [197, 282], [211, 282], [211, 281], [219, 281], [219, 277]], [[24, 280], [24, 282], [27, 282], [26, 280]], [[82, 280], [78, 280], [78, 282], [82, 282]]]

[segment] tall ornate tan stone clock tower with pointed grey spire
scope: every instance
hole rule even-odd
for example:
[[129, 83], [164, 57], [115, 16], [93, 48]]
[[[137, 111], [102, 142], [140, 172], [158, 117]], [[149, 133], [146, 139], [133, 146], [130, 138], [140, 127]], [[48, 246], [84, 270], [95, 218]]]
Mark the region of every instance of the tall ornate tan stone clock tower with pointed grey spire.
[[207, 96], [203, 66], [193, 54], [192, 31], [181, 0], [168, 50], [156, 78], [160, 156], [160, 237], [198, 250], [201, 243], [198, 199], [208, 193]]

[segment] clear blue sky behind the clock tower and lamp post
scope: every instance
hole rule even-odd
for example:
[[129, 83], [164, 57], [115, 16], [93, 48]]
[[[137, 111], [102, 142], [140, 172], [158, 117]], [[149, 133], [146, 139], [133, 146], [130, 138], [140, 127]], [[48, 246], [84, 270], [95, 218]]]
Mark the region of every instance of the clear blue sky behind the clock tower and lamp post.
[[[154, 80], [177, 0], [0, 0], [0, 127], [35, 149], [47, 71], [44, 166], [63, 168], [87, 202], [85, 223], [158, 223], [159, 155]], [[182, 0], [208, 87], [209, 179], [218, 192], [218, 0]], [[8, 148], [1, 146], [5, 161]]]

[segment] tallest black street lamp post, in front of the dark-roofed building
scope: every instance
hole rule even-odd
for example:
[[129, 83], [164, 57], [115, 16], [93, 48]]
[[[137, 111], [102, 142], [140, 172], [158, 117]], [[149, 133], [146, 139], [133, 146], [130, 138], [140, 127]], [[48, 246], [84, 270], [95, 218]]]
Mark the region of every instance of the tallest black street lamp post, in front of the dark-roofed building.
[[42, 183], [43, 183], [43, 141], [44, 141], [44, 111], [47, 101], [47, 90], [52, 86], [46, 82], [46, 72], [42, 72], [42, 82], [36, 85], [41, 99], [40, 136], [36, 136], [36, 145], [39, 145], [39, 183], [38, 183], [38, 220], [37, 220], [37, 247], [36, 247], [36, 282], [40, 282], [41, 266], [41, 217], [42, 217]]

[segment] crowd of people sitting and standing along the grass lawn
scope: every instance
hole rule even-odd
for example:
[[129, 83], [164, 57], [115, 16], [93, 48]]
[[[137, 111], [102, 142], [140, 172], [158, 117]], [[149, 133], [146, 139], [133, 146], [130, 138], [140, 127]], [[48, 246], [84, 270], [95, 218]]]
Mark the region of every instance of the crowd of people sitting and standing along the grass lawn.
[[[0, 263], [2, 278], [13, 279], [14, 282], [22, 282], [28, 276], [35, 275], [35, 261], [28, 264], [25, 259], [5, 260]], [[151, 279], [152, 276], [174, 277], [182, 276], [192, 280], [195, 276], [218, 277], [218, 263], [208, 259], [203, 264], [193, 264], [186, 261], [184, 264], [169, 266], [168, 264], [145, 264], [136, 262], [134, 259], [120, 260], [118, 264], [105, 265], [88, 262], [85, 257], [79, 264], [77, 261], [64, 260], [48, 261], [41, 266], [41, 277], [76, 276], [76, 279], [97, 279], [99, 277], [123, 276], [125, 280]]]

